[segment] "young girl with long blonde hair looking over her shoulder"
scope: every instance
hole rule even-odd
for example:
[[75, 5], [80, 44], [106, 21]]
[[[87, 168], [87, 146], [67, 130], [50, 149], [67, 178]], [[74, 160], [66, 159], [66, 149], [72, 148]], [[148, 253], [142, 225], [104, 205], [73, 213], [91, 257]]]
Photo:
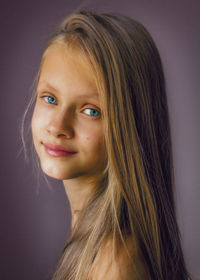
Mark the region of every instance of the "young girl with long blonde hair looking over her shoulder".
[[36, 88], [34, 147], [72, 212], [53, 279], [188, 279], [164, 75], [144, 26], [73, 13], [43, 53]]

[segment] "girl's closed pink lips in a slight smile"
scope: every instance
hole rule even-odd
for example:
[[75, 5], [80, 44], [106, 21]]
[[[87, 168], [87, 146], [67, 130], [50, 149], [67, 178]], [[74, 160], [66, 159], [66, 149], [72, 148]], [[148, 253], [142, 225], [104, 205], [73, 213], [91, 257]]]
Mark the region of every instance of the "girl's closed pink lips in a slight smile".
[[65, 157], [75, 154], [76, 152], [68, 147], [54, 145], [54, 144], [44, 144], [45, 151], [47, 154], [54, 157]]

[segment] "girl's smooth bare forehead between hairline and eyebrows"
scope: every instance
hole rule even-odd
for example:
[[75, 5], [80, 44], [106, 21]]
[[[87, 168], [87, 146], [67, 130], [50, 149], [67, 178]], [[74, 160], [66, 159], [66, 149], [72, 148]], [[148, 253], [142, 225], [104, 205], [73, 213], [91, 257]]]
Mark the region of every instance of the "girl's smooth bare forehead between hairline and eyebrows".
[[45, 53], [38, 86], [45, 83], [73, 92], [97, 92], [89, 59], [81, 50], [64, 44], [51, 46]]

